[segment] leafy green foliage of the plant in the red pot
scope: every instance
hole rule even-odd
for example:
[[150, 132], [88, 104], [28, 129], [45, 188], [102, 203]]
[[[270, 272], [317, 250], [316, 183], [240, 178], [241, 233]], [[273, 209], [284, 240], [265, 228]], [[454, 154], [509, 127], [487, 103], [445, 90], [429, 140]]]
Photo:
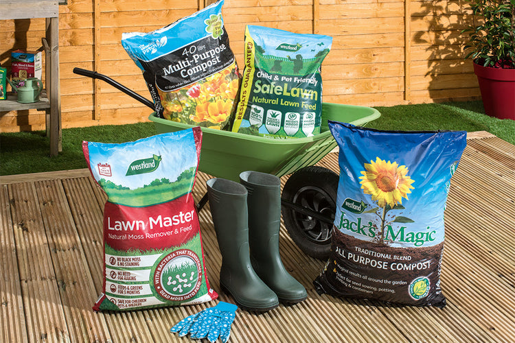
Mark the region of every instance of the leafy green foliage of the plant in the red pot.
[[484, 67], [515, 69], [515, 0], [468, 0], [474, 14], [465, 49]]

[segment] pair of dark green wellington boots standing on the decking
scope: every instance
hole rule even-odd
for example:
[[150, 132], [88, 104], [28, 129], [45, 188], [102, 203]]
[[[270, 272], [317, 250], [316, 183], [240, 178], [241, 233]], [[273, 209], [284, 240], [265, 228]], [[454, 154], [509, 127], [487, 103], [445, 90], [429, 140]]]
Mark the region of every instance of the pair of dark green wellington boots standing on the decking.
[[222, 254], [220, 287], [247, 311], [268, 311], [306, 299], [279, 255], [281, 182], [244, 171], [240, 183], [207, 180], [209, 207]]

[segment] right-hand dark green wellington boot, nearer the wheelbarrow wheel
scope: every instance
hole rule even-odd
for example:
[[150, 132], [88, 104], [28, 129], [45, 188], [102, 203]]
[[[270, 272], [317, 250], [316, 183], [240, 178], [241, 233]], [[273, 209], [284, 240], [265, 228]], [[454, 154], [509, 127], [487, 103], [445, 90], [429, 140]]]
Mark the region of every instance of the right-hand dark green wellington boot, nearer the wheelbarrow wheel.
[[306, 299], [306, 288], [291, 276], [279, 255], [281, 181], [275, 175], [244, 171], [240, 182], [247, 188], [251, 263], [279, 302], [294, 304]]

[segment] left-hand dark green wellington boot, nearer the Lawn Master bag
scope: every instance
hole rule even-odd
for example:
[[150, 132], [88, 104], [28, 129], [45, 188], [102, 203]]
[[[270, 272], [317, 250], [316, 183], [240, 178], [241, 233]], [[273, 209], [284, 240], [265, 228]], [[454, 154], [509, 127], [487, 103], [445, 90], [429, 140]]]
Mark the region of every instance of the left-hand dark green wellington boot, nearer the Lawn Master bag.
[[279, 305], [275, 293], [252, 268], [249, 254], [247, 189], [223, 178], [207, 180], [209, 207], [222, 254], [220, 287], [247, 311], [268, 311]]

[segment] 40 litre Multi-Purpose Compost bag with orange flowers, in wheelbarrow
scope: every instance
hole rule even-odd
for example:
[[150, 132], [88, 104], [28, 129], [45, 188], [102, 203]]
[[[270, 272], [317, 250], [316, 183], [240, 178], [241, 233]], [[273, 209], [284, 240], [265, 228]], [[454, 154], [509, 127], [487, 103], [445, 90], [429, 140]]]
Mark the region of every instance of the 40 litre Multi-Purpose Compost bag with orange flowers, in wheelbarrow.
[[229, 130], [239, 78], [222, 5], [218, 1], [153, 32], [122, 35], [159, 117]]

